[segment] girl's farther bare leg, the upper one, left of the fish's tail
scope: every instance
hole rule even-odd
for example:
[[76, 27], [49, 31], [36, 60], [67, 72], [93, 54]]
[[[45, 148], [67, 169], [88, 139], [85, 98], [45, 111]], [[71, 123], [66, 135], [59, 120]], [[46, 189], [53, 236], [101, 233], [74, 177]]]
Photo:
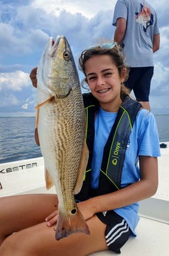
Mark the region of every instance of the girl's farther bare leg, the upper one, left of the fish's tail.
[[45, 217], [57, 210], [57, 203], [57, 195], [54, 194], [1, 197], [0, 245], [12, 233], [44, 222]]

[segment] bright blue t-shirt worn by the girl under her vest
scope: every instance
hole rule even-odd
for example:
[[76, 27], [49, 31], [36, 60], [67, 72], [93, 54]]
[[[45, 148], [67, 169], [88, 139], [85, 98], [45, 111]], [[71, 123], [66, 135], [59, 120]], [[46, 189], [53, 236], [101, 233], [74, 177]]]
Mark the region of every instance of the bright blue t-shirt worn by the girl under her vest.
[[[102, 165], [103, 149], [107, 142], [108, 135], [114, 125], [117, 113], [110, 113], [98, 109], [95, 119], [95, 140], [93, 147], [93, 160], [91, 163], [91, 186], [98, 187], [100, 168]], [[124, 165], [122, 169], [121, 186], [127, 186], [140, 179], [138, 166], [139, 155], [151, 157], [160, 156], [160, 143], [156, 121], [151, 112], [141, 109], [137, 113], [127, 149], [125, 151]], [[122, 216], [129, 224], [133, 235], [136, 236], [135, 228], [139, 221], [139, 204], [127, 205], [119, 209], [114, 209], [117, 214]]]

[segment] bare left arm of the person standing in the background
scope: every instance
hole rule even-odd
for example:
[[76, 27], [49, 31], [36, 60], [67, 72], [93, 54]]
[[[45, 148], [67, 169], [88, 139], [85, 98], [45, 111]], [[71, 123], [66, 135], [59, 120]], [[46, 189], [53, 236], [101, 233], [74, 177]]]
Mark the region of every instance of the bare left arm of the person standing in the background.
[[116, 21], [116, 28], [114, 32], [114, 40], [117, 42], [117, 44], [120, 44], [120, 42], [122, 42], [122, 39], [125, 35], [125, 29], [126, 20], [124, 18], [118, 18]]

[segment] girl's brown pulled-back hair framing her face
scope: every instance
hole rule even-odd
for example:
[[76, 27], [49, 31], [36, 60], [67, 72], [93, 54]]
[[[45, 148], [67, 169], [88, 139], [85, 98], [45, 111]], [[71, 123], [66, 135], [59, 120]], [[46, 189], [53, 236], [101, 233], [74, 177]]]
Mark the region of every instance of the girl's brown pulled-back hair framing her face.
[[[100, 55], [108, 55], [112, 58], [112, 61], [114, 62], [115, 66], [117, 66], [117, 69], [119, 70], [120, 76], [122, 75], [122, 70], [124, 70], [125, 68], [126, 73], [125, 73], [124, 81], [127, 80], [129, 76], [129, 68], [127, 65], [125, 65], [125, 61], [124, 61], [125, 55], [124, 55], [123, 49], [120, 46], [117, 46], [117, 44], [113, 48], [102, 47], [102, 45], [100, 47], [99, 45], [97, 45], [83, 51], [79, 58], [79, 69], [83, 71], [85, 76], [86, 76], [86, 73], [85, 73], [86, 61], [93, 56], [100, 56]], [[88, 89], [85, 86], [86, 83], [87, 83], [87, 78], [85, 77], [81, 82], [81, 86], [85, 89]], [[129, 94], [130, 94], [129, 90], [125, 87], [124, 83], [122, 83], [121, 90], [120, 90], [120, 98], [122, 99], [122, 101], [124, 100], [124, 97]]]

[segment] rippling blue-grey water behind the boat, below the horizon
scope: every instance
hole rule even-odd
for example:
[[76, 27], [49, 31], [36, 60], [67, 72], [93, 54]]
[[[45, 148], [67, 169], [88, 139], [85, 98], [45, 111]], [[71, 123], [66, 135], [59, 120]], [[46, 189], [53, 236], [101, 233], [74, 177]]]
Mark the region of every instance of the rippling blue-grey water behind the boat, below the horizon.
[[[169, 115], [156, 115], [160, 142], [169, 141]], [[0, 164], [41, 157], [34, 138], [34, 117], [0, 118]]]

